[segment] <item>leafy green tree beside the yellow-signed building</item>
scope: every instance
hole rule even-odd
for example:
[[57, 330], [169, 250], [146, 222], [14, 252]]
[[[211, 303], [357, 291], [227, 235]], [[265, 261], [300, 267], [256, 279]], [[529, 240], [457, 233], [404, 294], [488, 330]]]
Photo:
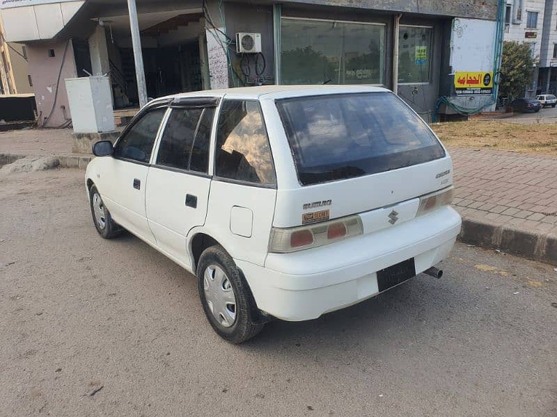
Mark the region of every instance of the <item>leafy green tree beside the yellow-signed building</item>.
[[515, 99], [524, 97], [526, 85], [532, 82], [532, 67], [535, 59], [527, 43], [503, 43], [503, 60], [499, 81], [499, 97]]

